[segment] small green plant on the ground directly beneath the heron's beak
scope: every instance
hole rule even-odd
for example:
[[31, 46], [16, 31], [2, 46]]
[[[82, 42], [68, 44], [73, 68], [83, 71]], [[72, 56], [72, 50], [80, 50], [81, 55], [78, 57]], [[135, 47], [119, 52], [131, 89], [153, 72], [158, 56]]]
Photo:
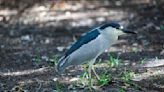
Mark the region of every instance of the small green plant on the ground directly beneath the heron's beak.
[[121, 79], [125, 82], [129, 82], [133, 76], [134, 76], [134, 72], [128, 70], [121, 74]]

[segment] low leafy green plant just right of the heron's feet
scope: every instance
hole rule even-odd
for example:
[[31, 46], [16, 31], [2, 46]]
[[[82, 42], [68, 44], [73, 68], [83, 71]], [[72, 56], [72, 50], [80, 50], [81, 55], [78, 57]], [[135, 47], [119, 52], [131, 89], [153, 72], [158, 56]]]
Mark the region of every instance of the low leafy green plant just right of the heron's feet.
[[100, 86], [107, 85], [111, 81], [110, 75], [107, 73], [101, 74], [100, 79], [97, 81], [97, 84]]

